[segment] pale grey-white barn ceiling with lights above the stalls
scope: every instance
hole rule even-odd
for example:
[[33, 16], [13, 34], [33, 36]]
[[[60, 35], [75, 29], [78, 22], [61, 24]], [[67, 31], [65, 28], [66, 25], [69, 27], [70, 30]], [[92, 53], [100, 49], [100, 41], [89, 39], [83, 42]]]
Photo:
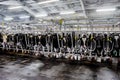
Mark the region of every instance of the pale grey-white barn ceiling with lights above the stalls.
[[[116, 8], [97, 12], [97, 9]], [[64, 14], [67, 13], [67, 14]], [[0, 0], [4, 24], [112, 26], [120, 24], [120, 0]]]

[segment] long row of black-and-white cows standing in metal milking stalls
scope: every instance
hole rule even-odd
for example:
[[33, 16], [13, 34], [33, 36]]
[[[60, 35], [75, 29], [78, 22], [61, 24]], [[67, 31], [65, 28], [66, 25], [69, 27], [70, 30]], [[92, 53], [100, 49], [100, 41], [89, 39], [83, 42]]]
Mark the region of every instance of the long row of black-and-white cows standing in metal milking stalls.
[[41, 53], [120, 57], [120, 35], [118, 33], [1, 33], [0, 43], [3, 49], [29, 50], [37, 55], [42, 51]]

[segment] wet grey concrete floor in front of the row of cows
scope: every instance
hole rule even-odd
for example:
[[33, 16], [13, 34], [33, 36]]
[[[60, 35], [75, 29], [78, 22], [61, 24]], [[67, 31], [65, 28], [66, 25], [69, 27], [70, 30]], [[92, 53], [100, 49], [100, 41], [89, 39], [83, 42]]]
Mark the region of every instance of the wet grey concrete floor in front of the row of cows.
[[107, 67], [90, 68], [0, 56], [0, 80], [120, 80], [120, 72]]

